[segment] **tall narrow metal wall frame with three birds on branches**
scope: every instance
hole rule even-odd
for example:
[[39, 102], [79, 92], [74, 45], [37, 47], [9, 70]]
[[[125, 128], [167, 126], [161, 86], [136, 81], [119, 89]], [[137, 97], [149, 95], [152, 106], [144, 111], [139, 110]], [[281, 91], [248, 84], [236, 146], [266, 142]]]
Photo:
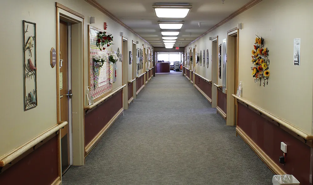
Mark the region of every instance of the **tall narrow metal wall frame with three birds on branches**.
[[36, 23], [23, 20], [24, 111], [37, 106]]

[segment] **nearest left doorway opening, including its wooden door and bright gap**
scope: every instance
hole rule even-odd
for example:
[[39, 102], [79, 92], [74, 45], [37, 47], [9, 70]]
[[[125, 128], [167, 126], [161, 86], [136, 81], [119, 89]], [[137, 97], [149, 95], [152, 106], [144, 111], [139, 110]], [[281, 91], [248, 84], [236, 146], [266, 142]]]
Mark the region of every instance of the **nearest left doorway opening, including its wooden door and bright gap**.
[[67, 121], [64, 128], [61, 129], [61, 169], [62, 174], [70, 166], [71, 143], [70, 138], [72, 134], [72, 69], [71, 69], [71, 25], [68, 22], [60, 20], [59, 24], [59, 38], [60, 38], [60, 117], [62, 121]]

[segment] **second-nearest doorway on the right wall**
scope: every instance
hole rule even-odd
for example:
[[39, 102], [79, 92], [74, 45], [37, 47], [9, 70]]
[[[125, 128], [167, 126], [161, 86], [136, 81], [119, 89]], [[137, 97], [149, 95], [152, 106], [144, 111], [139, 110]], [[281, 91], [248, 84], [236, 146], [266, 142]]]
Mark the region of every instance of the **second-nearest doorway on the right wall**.
[[[212, 84], [218, 84], [218, 36], [212, 38]], [[212, 85], [212, 108], [217, 107], [217, 88]]]

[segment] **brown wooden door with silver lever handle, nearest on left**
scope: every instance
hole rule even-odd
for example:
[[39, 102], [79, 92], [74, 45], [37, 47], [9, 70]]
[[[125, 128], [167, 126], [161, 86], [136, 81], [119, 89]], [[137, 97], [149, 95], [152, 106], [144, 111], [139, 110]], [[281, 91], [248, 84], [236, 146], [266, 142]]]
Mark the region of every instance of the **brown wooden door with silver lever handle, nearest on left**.
[[[69, 66], [68, 66], [68, 23], [60, 20], [60, 116], [61, 121], [69, 122]], [[62, 79], [62, 82], [61, 82]], [[69, 167], [69, 124], [61, 129], [62, 173]]]

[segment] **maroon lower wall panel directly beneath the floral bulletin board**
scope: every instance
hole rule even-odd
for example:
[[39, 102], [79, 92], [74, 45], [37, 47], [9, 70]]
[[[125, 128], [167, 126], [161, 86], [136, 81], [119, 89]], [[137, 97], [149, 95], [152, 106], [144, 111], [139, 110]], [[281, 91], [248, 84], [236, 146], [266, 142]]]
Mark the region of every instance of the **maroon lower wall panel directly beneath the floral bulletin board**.
[[85, 146], [101, 131], [102, 128], [123, 108], [123, 91], [100, 104], [85, 114]]

